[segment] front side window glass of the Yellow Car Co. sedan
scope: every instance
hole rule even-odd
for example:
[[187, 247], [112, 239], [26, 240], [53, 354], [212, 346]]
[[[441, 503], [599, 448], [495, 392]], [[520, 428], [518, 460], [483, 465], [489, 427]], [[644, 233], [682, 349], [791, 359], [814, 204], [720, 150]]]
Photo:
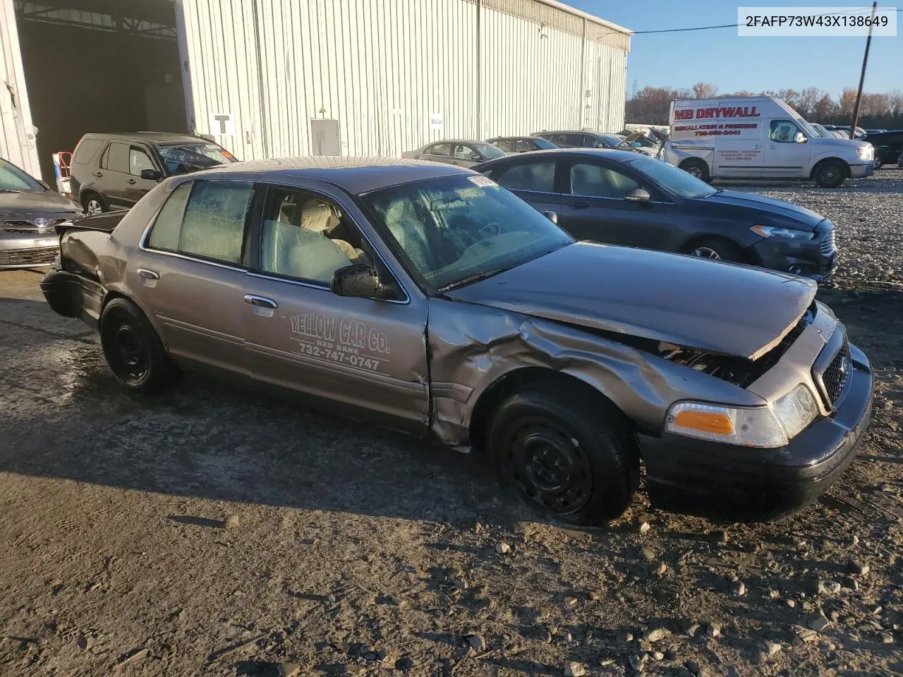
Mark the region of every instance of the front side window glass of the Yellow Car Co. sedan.
[[373, 265], [358, 227], [331, 202], [310, 193], [271, 188], [260, 243], [264, 273], [329, 285], [339, 268]]

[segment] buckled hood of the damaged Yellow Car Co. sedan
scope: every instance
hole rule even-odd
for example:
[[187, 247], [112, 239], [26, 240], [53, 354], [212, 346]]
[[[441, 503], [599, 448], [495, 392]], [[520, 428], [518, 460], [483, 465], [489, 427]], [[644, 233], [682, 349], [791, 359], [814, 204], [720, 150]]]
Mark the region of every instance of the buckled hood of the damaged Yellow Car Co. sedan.
[[447, 293], [546, 320], [756, 359], [817, 285], [790, 274], [580, 242]]

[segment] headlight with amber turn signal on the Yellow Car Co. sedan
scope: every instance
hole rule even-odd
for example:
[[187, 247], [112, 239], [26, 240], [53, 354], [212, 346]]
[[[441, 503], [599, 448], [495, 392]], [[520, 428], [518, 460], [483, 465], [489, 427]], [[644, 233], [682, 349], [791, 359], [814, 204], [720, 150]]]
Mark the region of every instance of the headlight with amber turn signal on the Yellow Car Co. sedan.
[[665, 430], [741, 447], [783, 447], [818, 416], [815, 398], [799, 384], [764, 407], [729, 407], [704, 402], [671, 406]]

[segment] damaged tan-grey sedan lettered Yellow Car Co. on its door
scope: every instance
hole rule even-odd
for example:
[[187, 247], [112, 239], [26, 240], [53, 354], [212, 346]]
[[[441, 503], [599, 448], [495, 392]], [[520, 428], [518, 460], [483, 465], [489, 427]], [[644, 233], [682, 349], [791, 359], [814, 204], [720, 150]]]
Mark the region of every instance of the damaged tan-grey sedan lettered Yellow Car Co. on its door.
[[485, 455], [565, 522], [619, 516], [641, 463], [654, 505], [787, 515], [869, 422], [869, 361], [815, 283], [576, 242], [470, 170], [242, 162], [104, 216], [62, 232], [42, 290], [126, 388], [274, 386]]

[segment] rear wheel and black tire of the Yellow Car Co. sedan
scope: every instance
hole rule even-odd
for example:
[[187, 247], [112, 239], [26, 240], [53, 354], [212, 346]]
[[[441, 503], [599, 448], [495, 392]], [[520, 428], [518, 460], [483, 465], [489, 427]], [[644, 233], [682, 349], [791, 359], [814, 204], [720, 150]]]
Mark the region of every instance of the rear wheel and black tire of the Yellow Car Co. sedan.
[[157, 393], [178, 373], [154, 327], [127, 299], [113, 299], [104, 308], [100, 346], [119, 382], [136, 393]]

